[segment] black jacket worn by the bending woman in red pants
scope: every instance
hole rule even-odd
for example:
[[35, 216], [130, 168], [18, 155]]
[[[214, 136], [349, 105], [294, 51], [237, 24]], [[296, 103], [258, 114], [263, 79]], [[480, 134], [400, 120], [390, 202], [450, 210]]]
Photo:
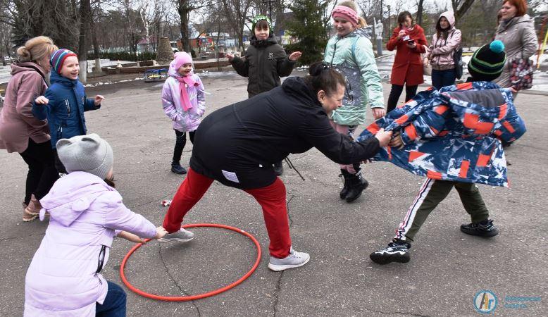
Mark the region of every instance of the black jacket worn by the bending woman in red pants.
[[190, 167], [231, 187], [272, 184], [272, 164], [316, 147], [337, 163], [355, 163], [379, 151], [378, 139], [354, 142], [335, 131], [316, 94], [301, 77], [281, 87], [225, 106], [200, 123]]

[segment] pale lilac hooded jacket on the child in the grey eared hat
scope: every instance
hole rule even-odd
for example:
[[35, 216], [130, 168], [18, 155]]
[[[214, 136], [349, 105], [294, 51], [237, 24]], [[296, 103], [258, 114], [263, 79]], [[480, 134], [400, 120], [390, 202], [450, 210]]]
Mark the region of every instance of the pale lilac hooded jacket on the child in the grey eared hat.
[[156, 236], [156, 227], [130, 211], [116, 189], [95, 175], [73, 172], [57, 180], [40, 199], [50, 214], [46, 235], [25, 278], [25, 316], [95, 316], [108, 290], [96, 273], [106, 246], [103, 267], [118, 230], [139, 237]]

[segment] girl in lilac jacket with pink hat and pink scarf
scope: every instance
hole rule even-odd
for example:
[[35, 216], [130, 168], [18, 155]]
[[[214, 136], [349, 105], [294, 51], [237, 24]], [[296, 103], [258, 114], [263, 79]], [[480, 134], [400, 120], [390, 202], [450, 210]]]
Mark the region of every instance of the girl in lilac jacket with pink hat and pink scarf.
[[192, 72], [192, 56], [184, 51], [175, 54], [168, 74], [162, 89], [162, 106], [166, 116], [173, 121], [176, 137], [171, 171], [175, 174], [186, 174], [187, 170], [180, 164], [181, 154], [187, 144], [186, 132], [188, 131], [190, 142], [194, 144], [194, 132], [206, 111], [204, 84]]

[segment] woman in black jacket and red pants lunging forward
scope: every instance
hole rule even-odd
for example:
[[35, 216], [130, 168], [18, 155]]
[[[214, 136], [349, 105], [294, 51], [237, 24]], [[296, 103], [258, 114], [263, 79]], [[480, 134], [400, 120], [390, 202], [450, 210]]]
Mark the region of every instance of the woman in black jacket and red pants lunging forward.
[[316, 147], [337, 163], [355, 163], [374, 156], [391, 133], [354, 142], [335, 131], [328, 113], [342, 105], [344, 78], [316, 63], [306, 78], [289, 77], [281, 87], [211, 113], [200, 124], [187, 178], [163, 220], [170, 234], [163, 241], [188, 241], [182, 218], [205, 194], [213, 180], [243, 189], [261, 204], [268, 237], [268, 268], [282, 271], [303, 266], [309, 254], [292, 249], [287, 223], [285, 186], [273, 162]]

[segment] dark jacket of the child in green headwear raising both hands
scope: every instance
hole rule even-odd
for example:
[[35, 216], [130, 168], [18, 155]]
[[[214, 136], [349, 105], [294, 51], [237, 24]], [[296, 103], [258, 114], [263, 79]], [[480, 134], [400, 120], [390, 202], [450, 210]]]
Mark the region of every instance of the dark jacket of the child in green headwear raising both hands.
[[239, 75], [249, 77], [249, 98], [280, 86], [280, 77], [291, 75], [295, 66], [273, 35], [263, 41], [251, 37], [245, 59], [235, 57], [230, 63]]

